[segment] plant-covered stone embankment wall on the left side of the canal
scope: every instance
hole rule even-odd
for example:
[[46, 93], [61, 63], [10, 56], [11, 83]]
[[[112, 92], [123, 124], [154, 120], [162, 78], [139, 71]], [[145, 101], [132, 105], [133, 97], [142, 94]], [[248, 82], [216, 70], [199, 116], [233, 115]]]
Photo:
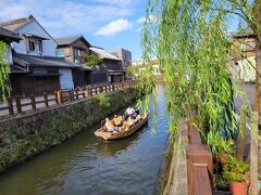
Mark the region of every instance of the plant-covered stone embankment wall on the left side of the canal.
[[100, 122], [137, 98], [134, 89], [117, 90], [0, 121], [0, 171]]

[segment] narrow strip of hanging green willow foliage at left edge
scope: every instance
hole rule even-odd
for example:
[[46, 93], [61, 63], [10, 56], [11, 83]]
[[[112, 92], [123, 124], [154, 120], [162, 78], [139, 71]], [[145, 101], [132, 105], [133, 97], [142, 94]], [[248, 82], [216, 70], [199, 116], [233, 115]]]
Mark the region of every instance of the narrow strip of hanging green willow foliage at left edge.
[[7, 101], [10, 96], [9, 75], [9, 48], [5, 42], [0, 41], [0, 100], [2, 101]]

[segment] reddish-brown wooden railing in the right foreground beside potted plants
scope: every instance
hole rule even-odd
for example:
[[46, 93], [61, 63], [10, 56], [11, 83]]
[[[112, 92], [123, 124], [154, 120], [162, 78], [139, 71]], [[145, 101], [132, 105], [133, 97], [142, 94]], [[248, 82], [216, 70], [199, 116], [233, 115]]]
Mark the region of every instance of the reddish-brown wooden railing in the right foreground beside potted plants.
[[213, 160], [210, 147], [201, 143], [199, 131], [188, 130], [188, 195], [212, 195]]

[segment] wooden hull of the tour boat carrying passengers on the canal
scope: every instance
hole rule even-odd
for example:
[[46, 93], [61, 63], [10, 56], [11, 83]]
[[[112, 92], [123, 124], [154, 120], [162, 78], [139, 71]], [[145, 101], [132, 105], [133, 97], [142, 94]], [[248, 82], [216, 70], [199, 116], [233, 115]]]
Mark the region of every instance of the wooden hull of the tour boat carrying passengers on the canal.
[[148, 121], [148, 115], [142, 114], [141, 119], [137, 123], [132, 126], [127, 131], [108, 132], [103, 128], [100, 128], [95, 132], [95, 135], [96, 136], [101, 136], [104, 140], [123, 139], [123, 138], [129, 136], [130, 134], [133, 134], [134, 132], [139, 130], [147, 121]]

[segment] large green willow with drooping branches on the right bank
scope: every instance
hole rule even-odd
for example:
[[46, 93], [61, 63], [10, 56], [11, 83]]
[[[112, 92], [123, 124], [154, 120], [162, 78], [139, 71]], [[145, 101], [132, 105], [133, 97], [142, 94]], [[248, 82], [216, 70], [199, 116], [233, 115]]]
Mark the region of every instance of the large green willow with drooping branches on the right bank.
[[[208, 133], [201, 132], [213, 153], [224, 144], [217, 144], [225, 142], [222, 136], [227, 138], [236, 130], [239, 121], [236, 119], [233, 96], [237, 89], [227, 70], [231, 50], [228, 25], [234, 14], [253, 29], [258, 37], [256, 69], [259, 75], [260, 10], [259, 0], [148, 1], [141, 41], [147, 72], [141, 75], [139, 88], [149, 96], [156, 82], [150, 62], [158, 57], [164, 69], [173, 139], [179, 134], [178, 119], [183, 117], [200, 131], [208, 127]], [[195, 105], [197, 118], [191, 113]]]

